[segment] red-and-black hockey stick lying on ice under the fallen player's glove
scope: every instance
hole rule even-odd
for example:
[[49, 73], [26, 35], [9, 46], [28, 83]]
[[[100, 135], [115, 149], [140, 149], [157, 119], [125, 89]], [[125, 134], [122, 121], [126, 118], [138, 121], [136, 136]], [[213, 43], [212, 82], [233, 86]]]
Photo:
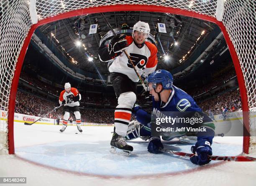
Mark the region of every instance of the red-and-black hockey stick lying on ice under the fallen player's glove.
[[[193, 153], [184, 153], [184, 152], [177, 152], [177, 151], [171, 151], [166, 148], [160, 149], [161, 152], [169, 153], [173, 155], [178, 156], [188, 156], [192, 157], [195, 154]], [[208, 156], [209, 160], [215, 160], [215, 161], [256, 161], [256, 158], [250, 157], [250, 156]]]

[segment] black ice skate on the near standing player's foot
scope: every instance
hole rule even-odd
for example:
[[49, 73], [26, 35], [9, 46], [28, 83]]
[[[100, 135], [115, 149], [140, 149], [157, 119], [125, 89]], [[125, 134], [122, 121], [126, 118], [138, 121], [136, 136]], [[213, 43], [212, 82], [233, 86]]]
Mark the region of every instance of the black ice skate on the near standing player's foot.
[[125, 156], [130, 156], [131, 151], [133, 151], [133, 147], [128, 145], [125, 142], [123, 136], [119, 136], [115, 132], [113, 133], [113, 137], [111, 139], [110, 145], [111, 145], [111, 149], [110, 149], [111, 153], [117, 153], [117, 154], [122, 154]]

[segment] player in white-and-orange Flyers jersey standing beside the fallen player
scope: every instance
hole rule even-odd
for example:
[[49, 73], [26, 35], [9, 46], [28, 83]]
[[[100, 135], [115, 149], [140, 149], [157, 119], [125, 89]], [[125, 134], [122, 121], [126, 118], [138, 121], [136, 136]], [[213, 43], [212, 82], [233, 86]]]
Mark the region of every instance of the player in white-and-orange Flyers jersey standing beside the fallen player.
[[101, 61], [113, 60], [109, 66], [110, 81], [118, 99], [115, 128], [110, 142], [113, 153], [130, 155], [133, 151], [133, 147], [129, 146], [123, 137], [127, 134], [132, 108], [136, 102], [139, 78], [123, 51], [126, 50], [140, 75], [147, 76], [154, 72], [157, 65], [157, 48], [146, 41], [149, 32], [148, 23], [139, 21], [133, 26], [132, 36], [118, 35], [112, 38], [107, 47], [102, 43], [98, 50]]

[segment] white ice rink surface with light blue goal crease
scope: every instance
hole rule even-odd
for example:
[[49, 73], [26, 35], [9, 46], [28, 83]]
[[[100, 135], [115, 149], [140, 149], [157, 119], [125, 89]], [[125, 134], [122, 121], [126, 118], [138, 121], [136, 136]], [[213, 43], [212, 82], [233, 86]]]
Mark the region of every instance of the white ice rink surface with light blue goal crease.
[[[112, 154], [113, 127], [15, 123], [14, 156], [0, 156], [0, 177], [27, 177], [26, 185], [255, 185], [256, 162], [211, 161], [197, 166], [189, 158], [151, 154], [147, 141], [136, 139], [130, 157]], [[191, 144], [164, 141], [170, 150], [190, 153]], [[236, 156], [242, 137], [216, 137], [213, 155]], [[253, 156], [253, 155], [251, 155]], [[253, 157], [256, 157], [255, 155]]]

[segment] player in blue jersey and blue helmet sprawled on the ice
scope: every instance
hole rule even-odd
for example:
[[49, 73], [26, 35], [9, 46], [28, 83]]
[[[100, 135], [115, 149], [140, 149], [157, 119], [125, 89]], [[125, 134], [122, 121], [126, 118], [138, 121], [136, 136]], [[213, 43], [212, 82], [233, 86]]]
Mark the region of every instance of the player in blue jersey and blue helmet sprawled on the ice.
[[[172, 74], [166, 70], [157, 70], [148, 76], [148, 90], [152, 95], [153, 101], [153, 111], [164, 112], [164, 111], [194, 111], [202, 112], [201, 108], [197, 106], [195, 101], [191, 96], [185, 93], [183, 90], [177, 88], [173, 84]], [[151, 136], [151, 114], [144, 111], [140, 106], [135, 106], [133, 108], [133, 114], [136, 116], [136, 120], [141, 123], [128, 133], [125, 138], [131, 140], [134, 138], [141, 137], [143, 139], [148, 138], [148, 151], [150, 153], [160, 153], [160, 149], [164, 148], [161, 143], [160, 136]], [[197, 143], [192, 146], [191, 150], [197, 155], [192, 156], [190, 160], [192, 163], [198, 165], [204, 165], [209, 163], [210, 160], [207, 159], [208, 155], [212, 155], [212, 139], [214, 137], [214, 124], [209, 117], [204, 117], [203, 126], [206, 126], [207, 132], [197, 135]], [[181, 133], [180, 136], [184, 136], [186, 133]], [[163, 140], [172, 140], [177, 136], [177, 133], [170, 133], [169, 136], [162, 136]]]

